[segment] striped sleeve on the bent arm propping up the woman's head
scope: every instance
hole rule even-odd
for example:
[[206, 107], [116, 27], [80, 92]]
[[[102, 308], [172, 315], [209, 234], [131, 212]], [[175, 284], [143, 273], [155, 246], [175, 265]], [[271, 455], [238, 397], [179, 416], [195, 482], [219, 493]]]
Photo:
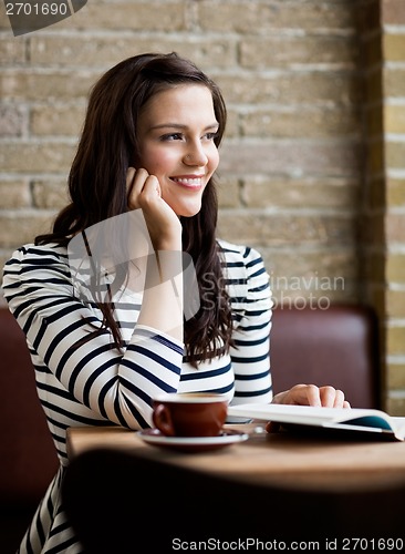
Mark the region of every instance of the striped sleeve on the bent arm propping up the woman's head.
[[4, 266], [3, 291], [30, 349], [69, 394], [101, 417], [146, 427], [152, 399], [177, 390], [184, 345], [144, 326], [135, 326], [124, 352], [108, 330], [94, 336], [100, 312], [75, 297], [66, 255], [59, 250], [17, 250]]

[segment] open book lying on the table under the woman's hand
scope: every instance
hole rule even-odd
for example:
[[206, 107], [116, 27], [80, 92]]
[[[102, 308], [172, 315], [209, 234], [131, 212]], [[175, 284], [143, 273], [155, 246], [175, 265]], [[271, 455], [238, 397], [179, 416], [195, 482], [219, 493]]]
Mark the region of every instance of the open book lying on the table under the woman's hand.
[[285, 429], [323, 432], [345, 431], [371, 440], [405, 440], [405, 418], [363, 408], [315, 408], [290, 404], [239, 404], [228, 407], [228, 418], [279, 422]]

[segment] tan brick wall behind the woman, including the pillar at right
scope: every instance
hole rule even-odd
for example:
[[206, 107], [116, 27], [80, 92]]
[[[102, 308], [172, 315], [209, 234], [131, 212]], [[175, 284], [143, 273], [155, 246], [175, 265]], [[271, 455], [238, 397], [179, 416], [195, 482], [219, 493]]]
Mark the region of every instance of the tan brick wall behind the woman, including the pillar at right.
[[[14, 38], [1, 2], [0, 264], [65, 203], [91, 84], [125, 57], [175, 50], [228, 104], [220, 236], [262, 252], [285, 307], [367, 301], [385, 329], [391, 302], [387, 340], [401, 345], [404, 9], [382, 3], [381, 32], [376, 0], [87, 0], [70, 19]], [[382, 74], [392, 99], [384, 112]], [[388, 235], [398, 247], [386, 257]], [[395, 287], [385, 295], [386, 278]], [[390, 353], [387, 388], [405, 412], [398, 356], [394, 370]]]

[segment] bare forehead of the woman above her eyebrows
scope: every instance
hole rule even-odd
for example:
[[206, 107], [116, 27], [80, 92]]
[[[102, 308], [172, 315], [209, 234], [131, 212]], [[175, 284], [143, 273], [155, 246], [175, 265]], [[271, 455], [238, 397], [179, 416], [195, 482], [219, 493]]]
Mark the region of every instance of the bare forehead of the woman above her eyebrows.
[[189, 117], [216, 122], [212, 94], [204, 84], [181, 84], [158, 92], [144, 105], [139, 123], [162, 124]]

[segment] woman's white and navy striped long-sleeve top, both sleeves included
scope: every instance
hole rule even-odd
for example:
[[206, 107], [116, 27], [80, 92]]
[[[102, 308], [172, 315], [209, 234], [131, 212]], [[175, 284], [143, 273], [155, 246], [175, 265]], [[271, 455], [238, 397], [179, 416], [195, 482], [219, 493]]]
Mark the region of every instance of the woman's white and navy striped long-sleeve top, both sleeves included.
[[230, 403], [271, 401], [269, 275], [257, 250], [218, 244], [233, 346], [198, 368], [187, 363], [181, 342], [137, 325], [142, 294], [121, 290], [114, 298], [124, 340], [121, 351], [107, 329], [94, 334], [103, 317], [94, 302], [77, 295], [65, 247], [25, 245], [6, 264], [4, 297], [25, 334], [39, 399], [61, 462], [20, 554], [81, 552], [59, 494], [69, 427], [149, 427], [153, 399], [167, 391], [217, 392]]

